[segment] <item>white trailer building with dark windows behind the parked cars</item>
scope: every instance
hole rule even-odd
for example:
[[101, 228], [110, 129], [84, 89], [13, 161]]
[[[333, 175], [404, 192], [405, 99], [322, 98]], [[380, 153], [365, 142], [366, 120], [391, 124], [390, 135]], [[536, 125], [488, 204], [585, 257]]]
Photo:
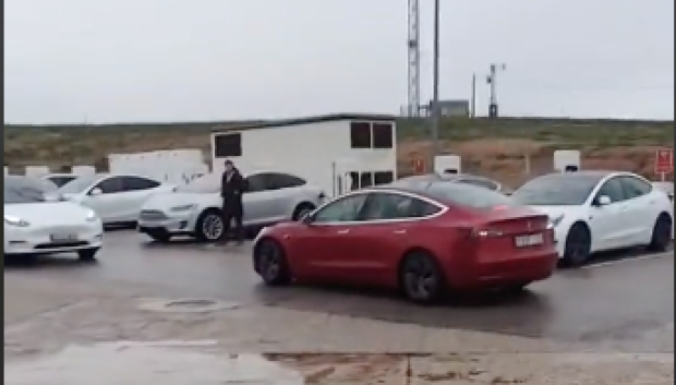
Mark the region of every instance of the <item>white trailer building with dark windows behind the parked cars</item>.
[[212, 133], [212, 169], [226, 159], [243, 172], [288, 172], [334, 196], [397, 178], [394, 117], [328, 115], [239, 127]]

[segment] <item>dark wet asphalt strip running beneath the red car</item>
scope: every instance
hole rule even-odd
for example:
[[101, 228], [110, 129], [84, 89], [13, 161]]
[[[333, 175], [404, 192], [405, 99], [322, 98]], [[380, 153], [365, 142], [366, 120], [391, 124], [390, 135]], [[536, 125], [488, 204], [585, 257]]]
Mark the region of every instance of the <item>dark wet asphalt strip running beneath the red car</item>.
[[[518, 296], [484, 294], [434, 308], [390, 293], [328, 288], [266, 288], [251, 268], [250, 246], [150, 243], [133, 231], [107, 233], [96, 264], [68, 257], [7, 266], [4, 274], [146, 285], [182, 297], [217, 298], [353, 317], [544, 337], [570, 342], [631, 342], [635, 351], [673, 351], [674, 253], [606, 255], [562, 269]], [[669, 337], [672, 339], [673, 337]]]

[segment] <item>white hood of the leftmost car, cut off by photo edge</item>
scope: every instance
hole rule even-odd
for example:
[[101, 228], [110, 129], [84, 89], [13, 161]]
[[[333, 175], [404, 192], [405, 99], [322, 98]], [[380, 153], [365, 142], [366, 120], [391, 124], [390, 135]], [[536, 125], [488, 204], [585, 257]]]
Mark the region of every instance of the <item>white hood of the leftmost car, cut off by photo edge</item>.
[[[5, 204], [4, 215], [43, 226], [81, 225], [92, 212], [73, 202]], [[47, 214], [46, 214], [47, 213]]]

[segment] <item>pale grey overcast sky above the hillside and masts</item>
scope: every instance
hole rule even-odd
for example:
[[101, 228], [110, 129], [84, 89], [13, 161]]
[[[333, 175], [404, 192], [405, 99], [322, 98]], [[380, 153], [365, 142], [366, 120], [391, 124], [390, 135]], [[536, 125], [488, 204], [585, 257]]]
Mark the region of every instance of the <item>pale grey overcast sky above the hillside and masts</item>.
[[[423, 2], [430, 97], [432, 0]], [[504, 115], [674, 118], [673, 0], [444, 0], [442, 96]], [[399, 111], [406, 0], [5, 0], [4, 119]]]

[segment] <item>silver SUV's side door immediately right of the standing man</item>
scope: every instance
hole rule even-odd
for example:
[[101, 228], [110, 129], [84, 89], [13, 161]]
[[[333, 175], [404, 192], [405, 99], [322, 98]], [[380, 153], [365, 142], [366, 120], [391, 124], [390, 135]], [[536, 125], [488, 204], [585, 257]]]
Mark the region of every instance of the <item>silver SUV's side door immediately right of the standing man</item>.
[[275, 224], [283, 218], [276, 214], [278, 196], [273, 189], [274, 178], [270, 173], [254, 173], [246, 177], [246, 191], [242, 196], [244, 205], [244, 226]]

